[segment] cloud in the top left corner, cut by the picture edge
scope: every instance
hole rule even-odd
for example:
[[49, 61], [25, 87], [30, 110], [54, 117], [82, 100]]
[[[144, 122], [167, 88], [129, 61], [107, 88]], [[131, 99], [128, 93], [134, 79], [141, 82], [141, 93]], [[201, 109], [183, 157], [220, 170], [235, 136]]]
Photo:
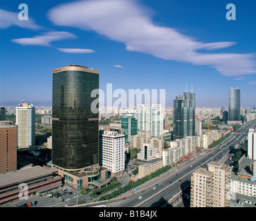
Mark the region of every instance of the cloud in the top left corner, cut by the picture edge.
[[10, 26], [18, 26], [20, 28], [27, 28], [30, 30], [42, 29], [42, 27], [38, 26], [30, 17], [28, 20], [19, 20], [19, 13], [0, 9], [0, 28], [5, 29]]

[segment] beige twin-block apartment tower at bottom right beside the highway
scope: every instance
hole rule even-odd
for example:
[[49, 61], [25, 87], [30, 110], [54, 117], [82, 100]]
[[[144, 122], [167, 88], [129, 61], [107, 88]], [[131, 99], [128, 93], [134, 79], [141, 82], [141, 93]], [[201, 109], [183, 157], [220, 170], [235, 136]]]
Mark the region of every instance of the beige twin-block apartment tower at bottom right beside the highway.
[[210, 162], [191, 176], [190, 207], [229, 207], [231, 200], [231, 167]]

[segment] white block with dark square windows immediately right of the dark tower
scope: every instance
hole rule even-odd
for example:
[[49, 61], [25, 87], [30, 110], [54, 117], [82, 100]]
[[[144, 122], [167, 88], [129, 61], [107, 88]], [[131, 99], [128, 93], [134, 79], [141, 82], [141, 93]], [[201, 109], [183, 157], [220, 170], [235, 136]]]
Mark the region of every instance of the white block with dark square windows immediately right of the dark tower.
[[111, 173], [125, 170], [125, 135], [117, 131], [100, 131], [99, 163]]

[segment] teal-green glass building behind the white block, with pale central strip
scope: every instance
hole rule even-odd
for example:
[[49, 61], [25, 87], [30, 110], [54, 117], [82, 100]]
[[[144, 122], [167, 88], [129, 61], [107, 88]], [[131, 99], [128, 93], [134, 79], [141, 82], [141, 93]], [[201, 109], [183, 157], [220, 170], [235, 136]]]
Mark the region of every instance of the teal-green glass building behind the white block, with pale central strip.
[[131, 142], [131, 136], [137, 134], [137, 119], [129, 113], [122, 113], [121, 128], [124, 129], [125, 142]]

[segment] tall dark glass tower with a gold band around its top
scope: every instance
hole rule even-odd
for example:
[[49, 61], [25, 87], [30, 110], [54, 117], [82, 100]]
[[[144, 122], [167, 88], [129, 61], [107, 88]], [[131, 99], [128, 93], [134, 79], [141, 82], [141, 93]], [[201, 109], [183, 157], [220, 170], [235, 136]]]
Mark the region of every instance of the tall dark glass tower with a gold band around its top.
[[53, 70], [53, 166], [80, 170], [98, 165], [98, 112], [93, 90], [99, 89], [99, 70], [68, 65]]

